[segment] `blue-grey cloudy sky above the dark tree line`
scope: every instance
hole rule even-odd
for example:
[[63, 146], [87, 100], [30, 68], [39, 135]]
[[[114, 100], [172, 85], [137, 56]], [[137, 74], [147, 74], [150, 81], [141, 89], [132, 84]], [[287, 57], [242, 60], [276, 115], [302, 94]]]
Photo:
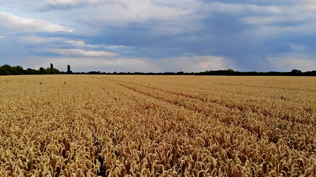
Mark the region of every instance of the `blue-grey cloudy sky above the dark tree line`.
[[316, 70], [316, 0], [0, 0], [0, 65]]

